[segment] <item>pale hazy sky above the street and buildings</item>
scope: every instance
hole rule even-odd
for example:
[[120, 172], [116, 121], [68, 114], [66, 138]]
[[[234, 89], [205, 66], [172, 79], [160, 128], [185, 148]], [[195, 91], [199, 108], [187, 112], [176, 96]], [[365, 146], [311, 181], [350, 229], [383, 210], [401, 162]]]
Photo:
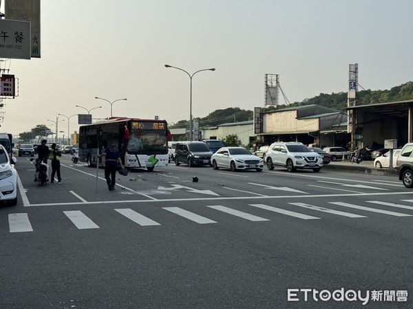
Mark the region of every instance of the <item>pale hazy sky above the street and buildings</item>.
[[189, 77], [165, 64], [216, 68], [193, 77], [193, 117], [264, 106], [265, 73], [290, 102], [347, 91], [356, 62], [361, 86], [390, 89], [413, 80], [412, 14], [411, 0], [41, 0], [41, 58], [0, 64], [19, 78], [0, 131], [54, 129], [56, 113], [85, 113], [76, 104], [108, 117], [95, 96], [127, 98], [114, 116], [189, 119]]

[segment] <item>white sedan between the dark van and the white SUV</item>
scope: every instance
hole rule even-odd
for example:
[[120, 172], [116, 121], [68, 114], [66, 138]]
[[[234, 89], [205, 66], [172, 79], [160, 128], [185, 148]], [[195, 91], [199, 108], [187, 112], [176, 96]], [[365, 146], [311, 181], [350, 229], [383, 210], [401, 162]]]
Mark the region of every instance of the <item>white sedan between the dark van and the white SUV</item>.
[[264, 161], [242, 147], [222, 147], [211, 157], [212, 168], [229, 168], [236, 170], [256, 170], [261, 172]]

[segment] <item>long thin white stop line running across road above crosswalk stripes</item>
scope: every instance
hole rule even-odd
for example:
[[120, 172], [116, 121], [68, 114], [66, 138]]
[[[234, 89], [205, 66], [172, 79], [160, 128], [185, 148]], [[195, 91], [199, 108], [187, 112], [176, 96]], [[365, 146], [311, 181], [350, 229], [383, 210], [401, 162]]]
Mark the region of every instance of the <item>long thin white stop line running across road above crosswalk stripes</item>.
[[183, 201], [243, 201], [243, 200], [266, 200], [266, 199], [284, 199], [284, 198], [338, 198], [338, 197], [357, 197], [357, 196], [393, 196], [413, 194], [410, 192], [373, 192], [373, 193], [357, 193], [357, 194], [313, 194], [313, 195], [275, 195], [275, 196], [231, 196], [231, 197], [196, 197], [196, 198], [163, 198], [156, 200], [120, 200], [120, 201], [94, 201], [94, 202], [66, 202], [66, 203], [42, 203], [31, 204], [30, 207], [39, 206], [64, 206], [64, 205], [96, 205], [96, 204], [127, 204], [127, 203], [165, 203], [165, 202], [183, 202]]

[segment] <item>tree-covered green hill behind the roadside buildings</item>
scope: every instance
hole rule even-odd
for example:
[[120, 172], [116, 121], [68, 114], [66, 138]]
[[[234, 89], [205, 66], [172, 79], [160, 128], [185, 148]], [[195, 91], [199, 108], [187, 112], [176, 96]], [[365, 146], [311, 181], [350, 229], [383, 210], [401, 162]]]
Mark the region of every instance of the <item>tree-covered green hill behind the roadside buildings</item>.
[[[406, 82], [400, 86], [393, 87], [390, 90], [361, 90], [357, 92], [358, 105], [367, 105], [384, 102], [394, 102], [413, 99], [413, 82]], [[294, 102], [289, 105], [268, 106], [264, 111], [274, 111], [280, 108], [318, 104], [343, 111], [347, 106], [347, 93], [320, 93], [314, 98], [304, 99], [302, 102]], [[260, 106], [260, 104], [257, 104]], [[207, 126], [218, 126], [228, 122], [244, 122], [253, 119], [253, 111], [240, 109], [239, 107], [229, 107], [213, 111], [207, 117], [197, 118], [201, 128]], [[180, 120], [170, 128], [184, 128], [188, 126], [188, 120]]]

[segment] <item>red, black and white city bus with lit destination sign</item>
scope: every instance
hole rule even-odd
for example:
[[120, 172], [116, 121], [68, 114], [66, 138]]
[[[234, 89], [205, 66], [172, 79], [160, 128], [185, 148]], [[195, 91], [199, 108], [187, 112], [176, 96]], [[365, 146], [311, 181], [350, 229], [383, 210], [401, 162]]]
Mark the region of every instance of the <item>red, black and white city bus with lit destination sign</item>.
[[79, 128], [79, 161], [89, 166], [103, 165], [99, 155], [114, 144], [125, 168], [147, 168], [168, 165], [166, 120], [112, 117]]

